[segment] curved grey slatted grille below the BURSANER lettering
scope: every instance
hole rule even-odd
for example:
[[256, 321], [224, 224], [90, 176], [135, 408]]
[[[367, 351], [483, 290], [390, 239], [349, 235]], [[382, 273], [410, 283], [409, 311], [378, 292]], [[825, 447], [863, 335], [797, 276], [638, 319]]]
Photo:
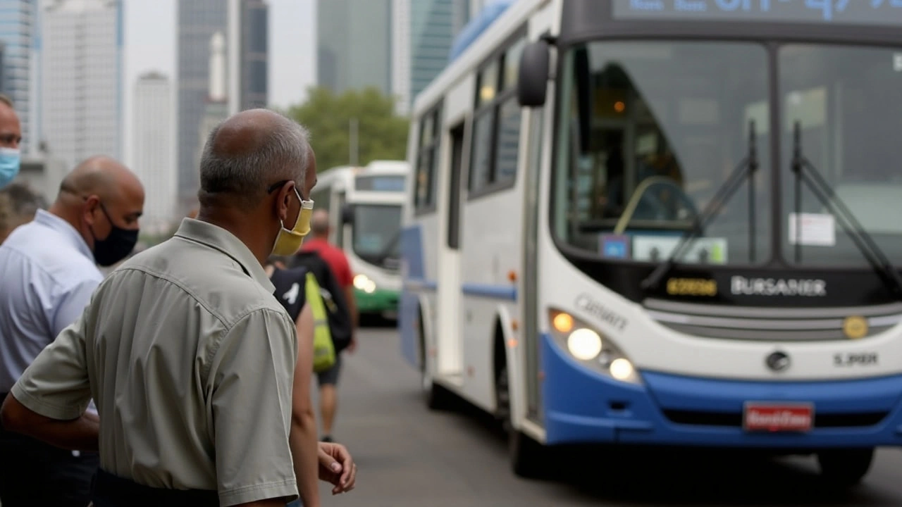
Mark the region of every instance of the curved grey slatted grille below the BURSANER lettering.
[[842, 329], [850, 316], [867, 319], [865, 336], [874, 336], [902, 322], [902, 303], [870, 307], [786, 309], [754, 308], [645, 300], [658, 324], [692, 336], [728, 340], [831, 341], [848, 340]]

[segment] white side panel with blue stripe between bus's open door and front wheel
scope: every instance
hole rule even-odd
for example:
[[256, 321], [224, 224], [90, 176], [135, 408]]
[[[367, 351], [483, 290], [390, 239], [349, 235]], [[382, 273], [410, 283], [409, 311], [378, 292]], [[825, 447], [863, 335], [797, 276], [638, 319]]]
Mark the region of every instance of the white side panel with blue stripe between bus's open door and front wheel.
[[495, 409], [494, 338], [499, 305], [520, 315], [517, 282], [522, 262], [521, 185], [464, 207], [463, 271], [465, 395], [485, 410]]

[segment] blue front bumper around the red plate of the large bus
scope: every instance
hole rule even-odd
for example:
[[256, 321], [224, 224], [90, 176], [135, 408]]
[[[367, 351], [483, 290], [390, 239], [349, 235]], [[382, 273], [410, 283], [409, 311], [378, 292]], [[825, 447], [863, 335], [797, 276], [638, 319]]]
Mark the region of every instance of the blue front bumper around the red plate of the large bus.
[[[659, 444], [817, 449], [902, 445], [902, 375], [834, 382], [745, 382], [641, 371], [621, 383], [577, 364], [542, 336], [548, 445]], [[746, 401], [806, 402], [806, 432], [743, 429]]]

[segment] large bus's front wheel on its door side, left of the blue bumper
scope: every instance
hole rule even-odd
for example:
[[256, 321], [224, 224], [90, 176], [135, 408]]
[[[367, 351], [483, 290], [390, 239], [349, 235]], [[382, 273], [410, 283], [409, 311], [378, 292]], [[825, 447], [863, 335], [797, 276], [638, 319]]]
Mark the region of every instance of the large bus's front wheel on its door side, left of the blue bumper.
[[529, 438], [511, 423], [511, 389], [505, 361], [495, 378], [495, 400], [498, 404], [496, 417], [507, 433], [508, 452], [511, 454], [511, 468], [520, 477], [540, 478], [547, 474], [548, 451], [537, 441]]

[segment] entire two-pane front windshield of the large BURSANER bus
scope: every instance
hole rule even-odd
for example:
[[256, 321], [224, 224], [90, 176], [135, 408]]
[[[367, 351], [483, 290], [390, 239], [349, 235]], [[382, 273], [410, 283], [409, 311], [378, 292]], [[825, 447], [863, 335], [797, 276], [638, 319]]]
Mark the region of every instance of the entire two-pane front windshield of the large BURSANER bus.
[[[665, 261], [753, 155], [758, 171], [718, 199], [719, 211], [676, 262], [749, 265], [778, 253], [805, 266], [868, 266], [842, 218], [805, 181], [796, 197], [798, 124], [798, 151], [811, 168], [886, 256], [902, 259], [902, 51], [785, 44], [774, 54], [778, 98], [769, 94], [769, 53], [756, 42], [595, 41], [566, 51], [558, 241], [605, 259]], [[775, 100], [780, 153], [771, 161]]]

